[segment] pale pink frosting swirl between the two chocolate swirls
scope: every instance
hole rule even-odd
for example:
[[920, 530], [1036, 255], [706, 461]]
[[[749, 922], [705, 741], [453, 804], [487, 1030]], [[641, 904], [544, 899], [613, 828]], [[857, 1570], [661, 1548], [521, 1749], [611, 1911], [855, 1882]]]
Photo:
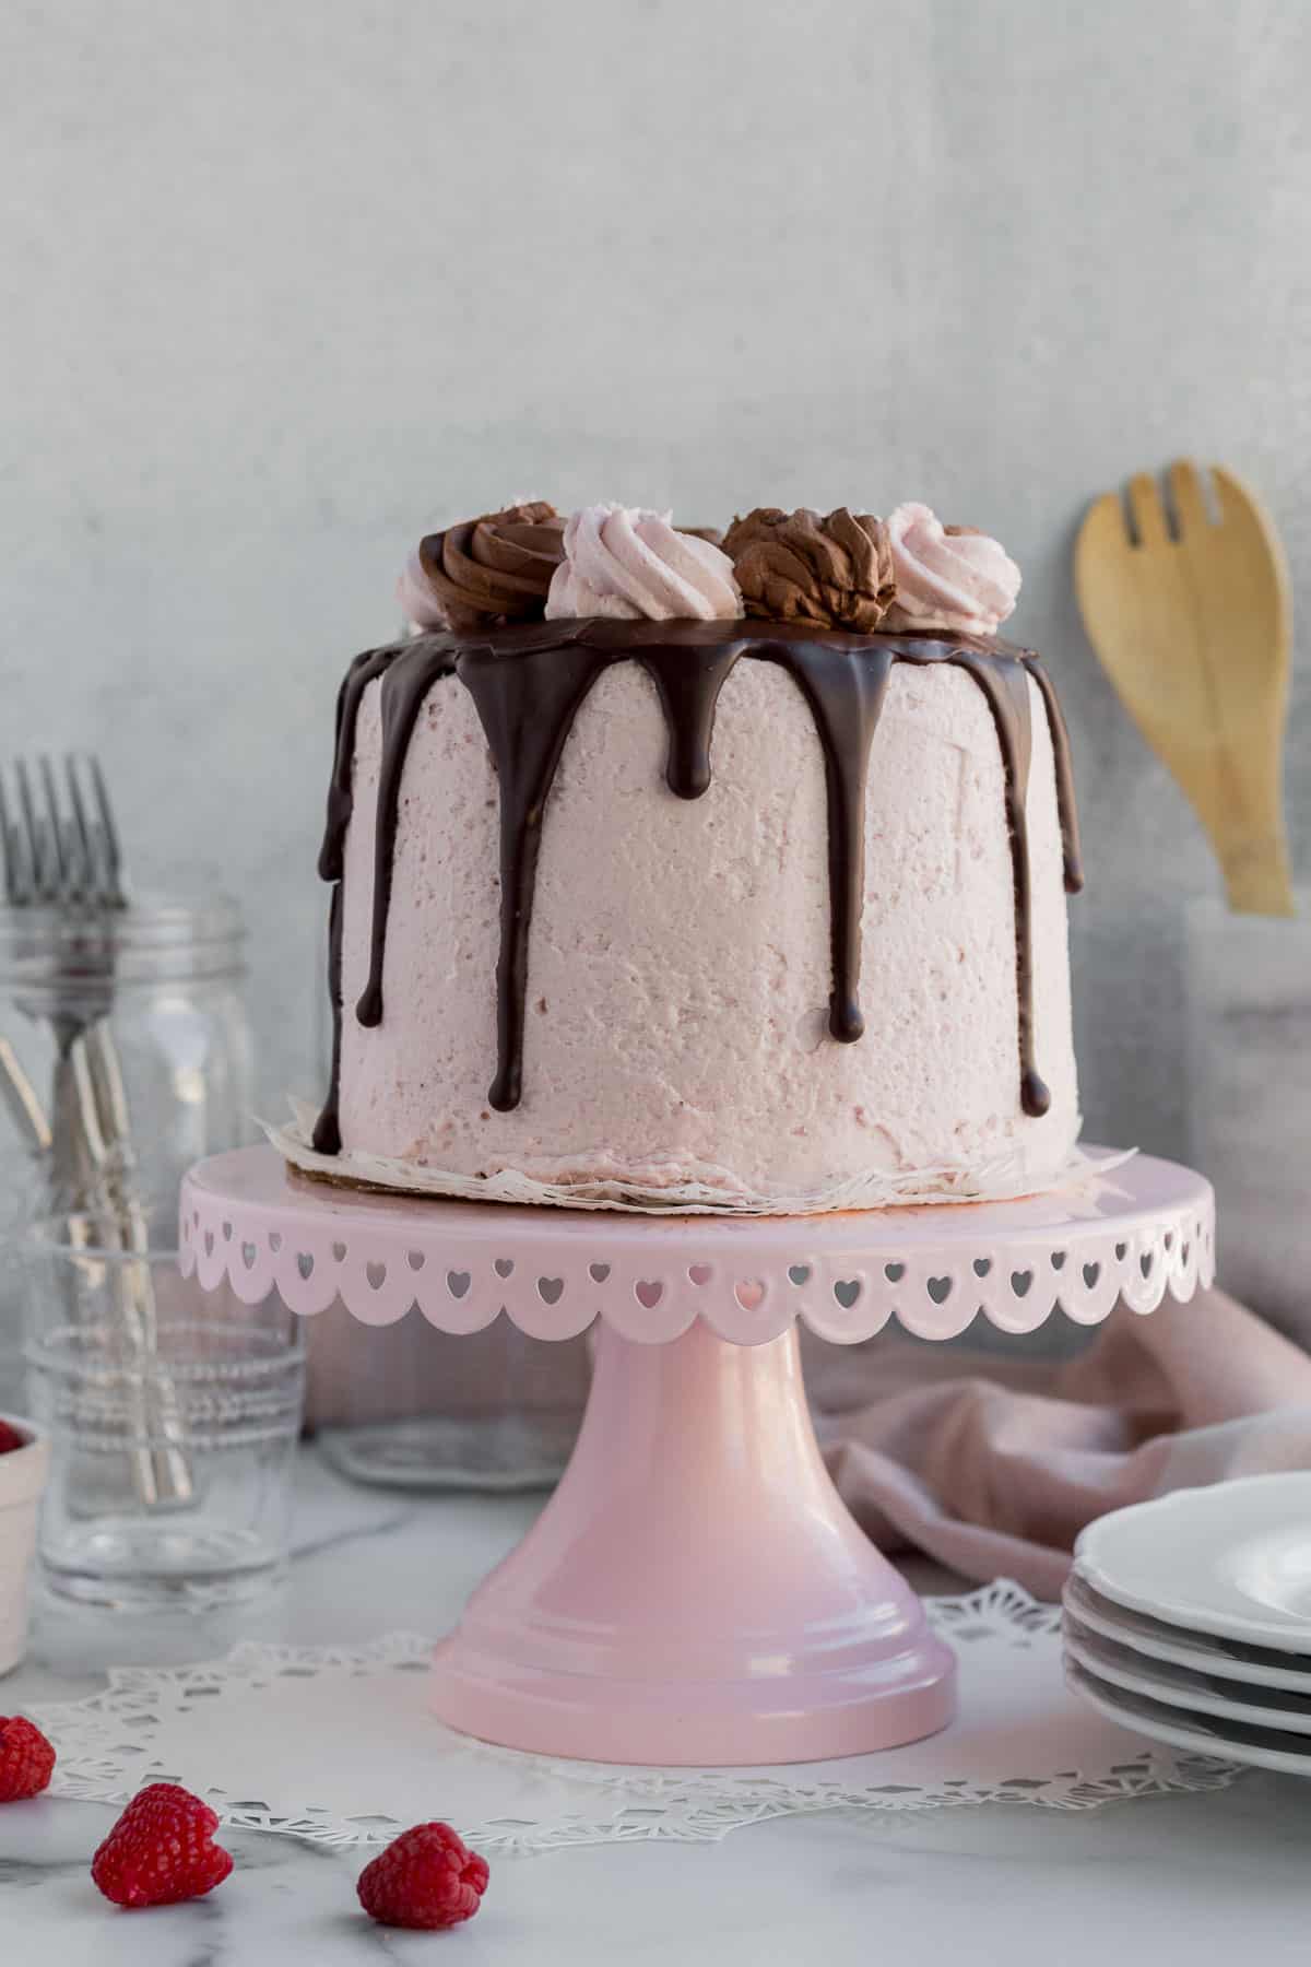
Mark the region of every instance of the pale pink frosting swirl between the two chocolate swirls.
[[729, 557], [696, 533], [680, 533], [670, 513], [584, 506], [568, 515], [548, 618], [715, 622], [741, 612]]

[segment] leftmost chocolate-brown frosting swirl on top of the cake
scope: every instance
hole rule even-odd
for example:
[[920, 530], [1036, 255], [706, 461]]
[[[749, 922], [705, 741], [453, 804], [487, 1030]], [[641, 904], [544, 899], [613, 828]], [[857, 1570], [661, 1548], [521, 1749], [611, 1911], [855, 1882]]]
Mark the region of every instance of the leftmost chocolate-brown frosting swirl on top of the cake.
[[425, 629], [539, 618], [564, 553], [564, 519], [533, 500], [428, 533], [405, 563], [397, 600]]

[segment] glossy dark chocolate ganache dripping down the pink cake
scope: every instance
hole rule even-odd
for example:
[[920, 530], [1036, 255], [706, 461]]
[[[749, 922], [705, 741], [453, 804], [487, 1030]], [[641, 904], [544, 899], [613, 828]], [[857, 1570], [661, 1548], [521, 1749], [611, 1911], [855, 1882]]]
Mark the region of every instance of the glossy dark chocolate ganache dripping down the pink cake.
[[523, 1094], [523, 1033], [529, 932], [537, 862], [550, 787], [574, 718], [598, 677], [619, 661], [651, 675], [668, 734], [666, 781], [678, 799], [700, 799], [712, 781], [712, 738], [719, 692], [743, 659], [776, 663], [802, 690], [820, 736], [827, 791], [831, 923], [829, 1033], [851, 1044], [865, 1019], [859, 1001], [861, 913], [865, 903], [865, 789], [871, 751], [894, 663], [963, 669], [987, 698], [1006, 787], [1006, 830], [1014, 877], [1020, 1105], [1050, 1107], [1034, 1060], [1034, 962], [1026, 795], [1032, 759], [1032, 677], [1046, 706], [1055, 755], [1065, 887], [1081, 883], [1069, 738], [1052, 683], [1038, 659], [979, 637], [938, 633], [861, 635], [810, 624], [769, 627], [747, 622], [560, 620], [417, 635], [356, 657], [338, 694], [336, 759], [318, 871], [336, 883], [330, 917], [332, 1088], [314, 1129], [318, 1153], [340, 1153], [338, 1092], [342, 1050], [342, 879], [352, 814], [352, 767], [360, 704], [381, 679], [381, 771], [373, 836], [370, 976], [356, 1015], [383, 1017], [387, 915], [395, 864], [401, 777], [423, 702], [440, 677], [470, 690], [501, 787], [501, 952], [497, 960], [497, 1068], [489, 1103], [501, 1111]]

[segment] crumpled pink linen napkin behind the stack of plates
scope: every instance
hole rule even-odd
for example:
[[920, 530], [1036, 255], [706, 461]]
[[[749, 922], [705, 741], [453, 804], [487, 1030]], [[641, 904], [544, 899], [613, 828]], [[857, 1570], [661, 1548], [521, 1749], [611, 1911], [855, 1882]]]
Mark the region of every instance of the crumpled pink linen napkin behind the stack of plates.
[[810, 1345], [829, 1471], [884, 1550], [1059, 1597], [1093, 1517], [1168, 1489], [1311, 1467], [1311, 1357], [1223, 1290], [1122, 1304], [1065, 1361], [910, 1340]]

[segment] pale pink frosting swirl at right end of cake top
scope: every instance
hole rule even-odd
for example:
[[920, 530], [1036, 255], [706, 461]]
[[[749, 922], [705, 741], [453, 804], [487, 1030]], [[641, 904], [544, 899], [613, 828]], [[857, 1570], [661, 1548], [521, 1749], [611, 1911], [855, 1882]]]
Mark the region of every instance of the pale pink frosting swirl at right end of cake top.
[[1020, 568], [987, 533], [943, 525], [920, 504], [888, 515], [896, 598], [884, 627], [995, 635], [1014, 612]]

